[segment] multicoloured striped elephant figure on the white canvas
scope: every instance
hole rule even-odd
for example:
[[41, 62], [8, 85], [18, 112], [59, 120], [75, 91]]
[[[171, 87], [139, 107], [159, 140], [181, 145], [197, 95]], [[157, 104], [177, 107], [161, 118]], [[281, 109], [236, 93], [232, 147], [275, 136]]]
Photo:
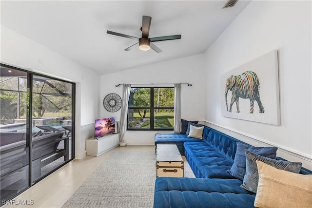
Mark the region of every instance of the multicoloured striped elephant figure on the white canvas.
[[250, 99], [250, 111], [249, 113], [254, 113], [254, 101], [257, 101], [259, 106], [259, 113], [264, 113], [264, 108], [260, 100], [260, 83], [257, 75], [252, 71], [246, 71], [238, 76], [230, 76], [226, 80], [225, 86], [225, 102], [226, 110], [228, 111], [228, 99], [227, 95], [229, 90], [232, 91], [232, 98], [230, 103], [230, 110], [232, 112], [232, 105], [235, 101], [236, 103], [236, 113], [239, 113], [239, 97]]

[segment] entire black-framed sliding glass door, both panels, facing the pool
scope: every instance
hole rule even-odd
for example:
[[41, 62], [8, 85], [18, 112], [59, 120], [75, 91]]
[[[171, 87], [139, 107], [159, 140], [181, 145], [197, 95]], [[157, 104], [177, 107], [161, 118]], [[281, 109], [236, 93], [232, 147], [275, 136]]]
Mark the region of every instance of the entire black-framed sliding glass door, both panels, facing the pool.
[[74, 158], [75, 84], [1, 64], [1, 205]]

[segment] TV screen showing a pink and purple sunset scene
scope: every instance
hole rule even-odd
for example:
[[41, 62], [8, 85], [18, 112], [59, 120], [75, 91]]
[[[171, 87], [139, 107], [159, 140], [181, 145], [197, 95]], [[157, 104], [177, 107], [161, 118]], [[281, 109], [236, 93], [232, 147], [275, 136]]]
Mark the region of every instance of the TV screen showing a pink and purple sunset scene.
[[94, 137], [98, 138], [115, 132], [115, 117], [95, 120]]

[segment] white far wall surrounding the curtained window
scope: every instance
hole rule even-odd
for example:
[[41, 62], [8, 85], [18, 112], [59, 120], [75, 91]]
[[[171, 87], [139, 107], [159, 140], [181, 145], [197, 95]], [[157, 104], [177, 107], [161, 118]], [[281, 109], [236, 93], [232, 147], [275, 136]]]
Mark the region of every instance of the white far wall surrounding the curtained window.
[[[181, 86], [181, 117], [203, 120], [206, 109], [203, 60], [203, 55], [197, 55], [103, 75], [101, 76], [101, 100], [110, 93], [122, 97], [122, 86], [115, 87], [119, 83], [190, 83], [193, 84], [192, 87]], [[100, 112], [101, 117], [115, 116], [116, 120], [120, 120], [120, 110], [110, 113], [101, 106]], [[125, 133], [124, 140], [129, 145], [154, 145], [155, 133], [128, 131]]]

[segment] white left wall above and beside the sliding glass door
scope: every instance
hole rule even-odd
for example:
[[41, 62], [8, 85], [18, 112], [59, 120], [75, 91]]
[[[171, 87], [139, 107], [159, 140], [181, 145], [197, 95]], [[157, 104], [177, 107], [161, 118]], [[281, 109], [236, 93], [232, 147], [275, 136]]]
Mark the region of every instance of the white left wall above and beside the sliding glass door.
[[75, 157], [83, 157], [85, 139], [92, 135], [81, 131], [86, 129], [84, 126], [94, 123], [99, 113], [98, 74], [3, 25], [1, 25], [1, 62], [77, 83]]

